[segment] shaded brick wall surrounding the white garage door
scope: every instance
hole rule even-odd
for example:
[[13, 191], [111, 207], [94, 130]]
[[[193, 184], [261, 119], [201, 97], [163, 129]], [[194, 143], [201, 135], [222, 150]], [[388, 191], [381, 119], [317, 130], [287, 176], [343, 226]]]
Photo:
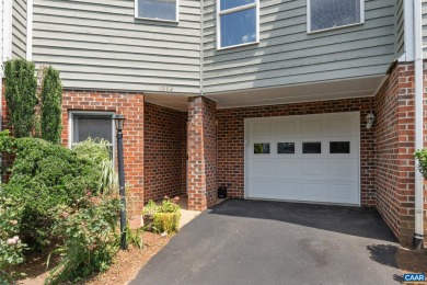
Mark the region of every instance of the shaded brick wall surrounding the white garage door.
[[374, 99], [365, 98], [218, 110], [218, 185], [231, 183], [229, 195], [244, 196], [244, 118], [360, 111], [361, 205], [372, 207], [376, 205], [376, 141], [374, 130], [365, 126], [365, 117], [373, 107]]

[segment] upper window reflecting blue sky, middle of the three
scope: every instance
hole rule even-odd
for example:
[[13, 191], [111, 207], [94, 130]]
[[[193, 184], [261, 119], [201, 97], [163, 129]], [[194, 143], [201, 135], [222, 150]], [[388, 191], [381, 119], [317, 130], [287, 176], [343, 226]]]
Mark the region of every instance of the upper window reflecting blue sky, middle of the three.
[[258, 43], [258, 0], [217, 0], [218, 49]]

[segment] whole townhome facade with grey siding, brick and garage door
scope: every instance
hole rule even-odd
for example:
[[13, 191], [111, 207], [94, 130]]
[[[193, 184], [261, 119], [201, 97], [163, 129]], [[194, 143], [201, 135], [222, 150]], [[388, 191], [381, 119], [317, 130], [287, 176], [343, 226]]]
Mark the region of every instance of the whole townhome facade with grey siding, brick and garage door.
[[126, 116], [139, 207], [186, 193], [206, 209], [224, 185], [232, 198], [376, 207], [402, 244], [424, 242], [413, 153], [426, 146], [427, 1], [1, 7], [2, 60], [61, 72], [64, 145], [114, 149], [112, 117]]

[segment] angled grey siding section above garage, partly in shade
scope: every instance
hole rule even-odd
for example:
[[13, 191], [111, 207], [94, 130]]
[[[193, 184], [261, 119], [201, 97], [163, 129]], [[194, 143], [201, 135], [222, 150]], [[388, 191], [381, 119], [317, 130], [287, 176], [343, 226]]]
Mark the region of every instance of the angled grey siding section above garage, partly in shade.
[[217, 50], [205, 4], [205, 93], [384, 75], [395, 56], [395, 2], [366, 1], [362, 25], [307, 33], [307, 0], [259, 1], [258, 45]]

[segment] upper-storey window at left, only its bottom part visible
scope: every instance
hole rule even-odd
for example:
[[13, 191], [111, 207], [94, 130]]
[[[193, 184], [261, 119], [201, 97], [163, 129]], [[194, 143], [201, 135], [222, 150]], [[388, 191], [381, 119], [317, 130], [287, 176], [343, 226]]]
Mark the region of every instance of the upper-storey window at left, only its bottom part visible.
[[178, 21], [178, 0], [135, 0], [135, 16], [160, 21]]

